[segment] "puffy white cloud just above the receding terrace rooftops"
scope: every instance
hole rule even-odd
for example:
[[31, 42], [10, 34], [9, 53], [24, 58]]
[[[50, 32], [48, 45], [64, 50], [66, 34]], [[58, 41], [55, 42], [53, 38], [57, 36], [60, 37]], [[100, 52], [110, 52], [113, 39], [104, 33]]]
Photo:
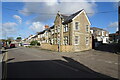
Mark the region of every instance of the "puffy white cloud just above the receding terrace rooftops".
[[44, 29], [44, 24], [41, 22], [33, 22], [29, 28], [35, 32], [40, 32]]

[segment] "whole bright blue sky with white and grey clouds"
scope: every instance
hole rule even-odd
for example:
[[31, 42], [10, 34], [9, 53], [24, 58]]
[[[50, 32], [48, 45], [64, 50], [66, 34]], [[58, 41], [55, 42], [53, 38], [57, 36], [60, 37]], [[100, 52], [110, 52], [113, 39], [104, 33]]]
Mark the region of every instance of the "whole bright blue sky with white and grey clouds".
[[44, 30], [44, 25], [52, 26], [58, 11], [70, 15], [81, 9], [86, 11], [91, 27], [102, 28], [110, 33], [117, 31], [116, 2], [2, 2], [0, 38], [26, 38]]

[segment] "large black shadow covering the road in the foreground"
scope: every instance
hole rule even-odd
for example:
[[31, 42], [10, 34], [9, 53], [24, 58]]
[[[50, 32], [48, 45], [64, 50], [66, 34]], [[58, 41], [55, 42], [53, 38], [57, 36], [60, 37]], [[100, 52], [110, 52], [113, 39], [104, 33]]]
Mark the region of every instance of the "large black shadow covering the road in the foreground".
[[[112, 77], [97, 73], [69, 57], [62, 60], [41, 60], [7, 63], [7, 79], [12, 78], [105, 78]], [[96, 80], [97, 80], [96, 79]], [[117, 79], [115, 79], [117, 80]]]

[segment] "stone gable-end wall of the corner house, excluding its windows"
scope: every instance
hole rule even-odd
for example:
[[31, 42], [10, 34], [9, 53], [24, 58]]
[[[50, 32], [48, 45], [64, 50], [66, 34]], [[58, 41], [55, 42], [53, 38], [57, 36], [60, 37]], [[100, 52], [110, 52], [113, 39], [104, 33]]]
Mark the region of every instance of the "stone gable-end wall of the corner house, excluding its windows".
[[[75, 21], [80, 22], [79, 30], [74, 30]], [[85, 17], [85, 13], [81, 13], [73, 20], [73, 39], [72, 39], [73, 45], [75, 41], [75, 36], [79, 36], [79, 45], [74, 45], [74, 51], [84, 51], [92, 49], [92, 36], [90, 34], [90, 27], [89, 31], [87, 32], [86, 25], [90, 26], [89, 22], [87, 21], [87, 18]], [[86, 37], [89, 38], [89, 45], [86, 45]]]

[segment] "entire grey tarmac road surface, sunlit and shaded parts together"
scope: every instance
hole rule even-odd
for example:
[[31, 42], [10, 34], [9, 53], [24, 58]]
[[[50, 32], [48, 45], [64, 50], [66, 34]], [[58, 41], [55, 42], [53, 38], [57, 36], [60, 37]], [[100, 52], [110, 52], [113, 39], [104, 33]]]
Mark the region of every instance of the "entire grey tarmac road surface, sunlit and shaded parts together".
[[118, 78], [118, 55], [12, 48], [8, 49], [7, 78]]

